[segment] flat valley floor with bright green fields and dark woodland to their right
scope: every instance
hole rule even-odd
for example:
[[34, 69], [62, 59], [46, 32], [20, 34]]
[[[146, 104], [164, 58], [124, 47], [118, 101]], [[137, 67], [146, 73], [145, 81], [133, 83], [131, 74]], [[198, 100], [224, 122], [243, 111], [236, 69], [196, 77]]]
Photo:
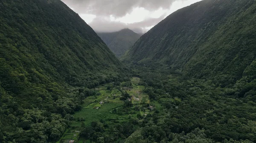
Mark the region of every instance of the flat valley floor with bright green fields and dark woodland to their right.
[[96, 87], [57, 143], [256, 142], [254, 82], [220, 87], [174, 71], [134, 69], [141, 79]]

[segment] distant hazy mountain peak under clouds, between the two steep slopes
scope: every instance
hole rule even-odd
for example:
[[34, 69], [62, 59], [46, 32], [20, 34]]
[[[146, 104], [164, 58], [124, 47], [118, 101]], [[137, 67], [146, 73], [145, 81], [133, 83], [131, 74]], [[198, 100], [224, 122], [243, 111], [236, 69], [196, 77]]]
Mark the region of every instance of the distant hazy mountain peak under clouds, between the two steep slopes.
[[122, 29], [113, 33], [97, 33], [117, 56], [122, 56], [128, 48], [140, 38], [140, 35], [130, 29]]

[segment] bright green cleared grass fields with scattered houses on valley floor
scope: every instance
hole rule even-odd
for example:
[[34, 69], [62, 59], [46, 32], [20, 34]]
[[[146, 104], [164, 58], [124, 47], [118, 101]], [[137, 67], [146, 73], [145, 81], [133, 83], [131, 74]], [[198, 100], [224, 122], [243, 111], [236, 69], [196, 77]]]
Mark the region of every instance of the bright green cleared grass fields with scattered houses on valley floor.
[[[128, 89], [126, 87], [121, 88], [132, 96], [131, 101], [134, 106], [142, 107], [143, 104], [150, 104], [150, 101], [148, 99], [148, 95], [143, 93], [145, 87], [138, 85], [139, 82], [140, 78], [133, 77], [131, 79], [132, 89]], [[99, 91], [100, 95], [89, 96], [84, 99], [82, 109], [73, 115], [76, 119], [84, 118], [85, 121], [83, 122], [85, 126], [90, 126], [92, 121], [100, 119], [105, 119], [109, 126], [114, 125], [116, 122], [122, 122], [128, 119], [128, 114], [120, 115], [113, 112], [113, 109], [122, 109], [124, 102], [119, 99], [119, 96], [121, 96], [122, 93], [117, 88], [107, 90], [108, 85], [109, 84], [105, 84], [97, 87], [95, 90]], [[103, 104], [100, 104], [100, 102], [103, 102]], [[149, 112], [149, 109], [145, 109], [143, 111], [136, 111], [134, 112], [135, 114], [130, 115], [136, 117], [139, 113], [144, 115]], [[81, 123], [81, 121], [74, 121], [70, 129], [67, 129], [57, 143], [66, 143], [68, 140], [75, 140], [75, 143], [87, 143], [88, 140], [85, 140], [82, 137], [78, 138], [79, 131], [81, 130]]]

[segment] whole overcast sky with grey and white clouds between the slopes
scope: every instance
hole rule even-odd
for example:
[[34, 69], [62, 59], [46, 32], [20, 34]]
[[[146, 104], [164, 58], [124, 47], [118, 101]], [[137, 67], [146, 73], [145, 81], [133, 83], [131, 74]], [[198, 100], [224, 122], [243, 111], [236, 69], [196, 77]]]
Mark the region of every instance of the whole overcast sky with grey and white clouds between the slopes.
[[169, 14], [201, 0], [62, 0], [94, 31], [145, 33]]

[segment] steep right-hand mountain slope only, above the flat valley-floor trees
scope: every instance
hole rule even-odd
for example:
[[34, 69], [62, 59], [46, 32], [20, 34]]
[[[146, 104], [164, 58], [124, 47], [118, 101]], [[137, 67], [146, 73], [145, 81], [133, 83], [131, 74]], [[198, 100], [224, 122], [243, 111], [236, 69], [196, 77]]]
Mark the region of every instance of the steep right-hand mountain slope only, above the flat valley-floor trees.
[[228, 84], [256, 77], [255, 45], [255, 0], [203, 0], [154, 26], [122, 61], [163, 64]]

